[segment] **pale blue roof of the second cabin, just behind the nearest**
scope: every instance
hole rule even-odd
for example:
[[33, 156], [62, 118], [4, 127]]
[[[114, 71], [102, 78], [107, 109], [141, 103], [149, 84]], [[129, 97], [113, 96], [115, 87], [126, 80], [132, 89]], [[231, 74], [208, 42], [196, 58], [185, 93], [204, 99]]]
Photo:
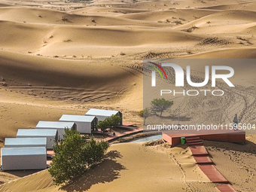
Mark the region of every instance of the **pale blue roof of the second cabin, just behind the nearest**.
[[46, 138], [6, 138], [5, 145], [46, 145]]

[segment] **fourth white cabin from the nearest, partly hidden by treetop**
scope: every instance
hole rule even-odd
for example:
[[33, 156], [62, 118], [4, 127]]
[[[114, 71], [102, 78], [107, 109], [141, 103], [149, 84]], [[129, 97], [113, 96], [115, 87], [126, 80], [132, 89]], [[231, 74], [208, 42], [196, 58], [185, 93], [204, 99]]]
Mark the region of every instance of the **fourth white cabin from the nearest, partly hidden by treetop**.
[[60, 121], [44, 121], [40, 120], [35, 126], [35, 129], [40, 130], [58, 130], [58, 140], [62, 140], [65, 134], [65, 129], [76, 130], [75, 122], [60, 122]]

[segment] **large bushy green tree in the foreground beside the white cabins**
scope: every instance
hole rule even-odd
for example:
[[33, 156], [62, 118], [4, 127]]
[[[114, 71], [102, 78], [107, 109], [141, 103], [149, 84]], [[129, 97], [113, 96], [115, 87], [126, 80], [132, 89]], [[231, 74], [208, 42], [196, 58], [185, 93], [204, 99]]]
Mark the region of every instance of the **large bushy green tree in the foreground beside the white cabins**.
[[96, 142], [93, 138], [87, 142], [87, 138], [76, 130], [66, 129], [64, 139], [53, 146], [55, 155], [48, 169], [53, 182], [69, 184], [73, 178], [100, 163], [107, 148], [108, 142]]

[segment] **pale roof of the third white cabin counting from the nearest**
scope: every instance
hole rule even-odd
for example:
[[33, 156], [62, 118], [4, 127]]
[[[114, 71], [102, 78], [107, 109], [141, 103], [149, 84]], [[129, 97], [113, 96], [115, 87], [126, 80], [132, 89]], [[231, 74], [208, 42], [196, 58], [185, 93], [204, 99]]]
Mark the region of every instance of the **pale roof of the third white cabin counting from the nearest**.
[[56, 136], [57, 130], [19, 129], [17, 136]]

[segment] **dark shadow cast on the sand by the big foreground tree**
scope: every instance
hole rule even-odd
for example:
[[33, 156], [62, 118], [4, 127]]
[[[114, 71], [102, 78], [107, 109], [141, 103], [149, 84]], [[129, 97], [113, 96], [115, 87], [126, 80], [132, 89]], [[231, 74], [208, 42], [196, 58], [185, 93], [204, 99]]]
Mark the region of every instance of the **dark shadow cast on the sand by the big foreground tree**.
[[62, 187], [62, 190], [68, 192], [71, 191], [84, 191], [89, 190], [94, 184], [107, 183], [114, 181], [114, 179], [119, 178], [120, 171], [126, 169], [123, 165], [115, 160], [116, 158], [121, 158], [122, 155], [118, 151], [109, 151], [102, 163], [98, 166], [85, 172], [78, 178], [75, 178], [71, 184]]

